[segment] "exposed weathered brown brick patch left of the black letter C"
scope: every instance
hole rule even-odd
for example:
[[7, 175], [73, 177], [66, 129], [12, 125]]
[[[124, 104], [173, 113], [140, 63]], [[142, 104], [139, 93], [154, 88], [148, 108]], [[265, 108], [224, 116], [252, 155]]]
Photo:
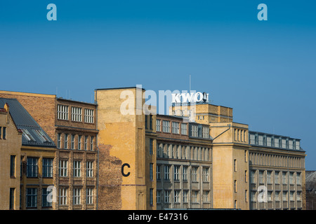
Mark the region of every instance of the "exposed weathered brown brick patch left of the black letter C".
[[121, 165], [118, 158], [110, 155], [112, 146], [99, 145], [98, 209], [121, 209]]

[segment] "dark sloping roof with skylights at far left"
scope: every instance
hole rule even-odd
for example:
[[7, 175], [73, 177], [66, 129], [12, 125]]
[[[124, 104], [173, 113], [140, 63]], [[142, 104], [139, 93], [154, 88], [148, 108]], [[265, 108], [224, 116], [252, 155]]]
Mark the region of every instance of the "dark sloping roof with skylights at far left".
[[55, 147], [53, 140], [18, 102], [18, 99], [0, 98], [0, 106], [6, 103], [16, 127], [22, 130], [22, 146]]

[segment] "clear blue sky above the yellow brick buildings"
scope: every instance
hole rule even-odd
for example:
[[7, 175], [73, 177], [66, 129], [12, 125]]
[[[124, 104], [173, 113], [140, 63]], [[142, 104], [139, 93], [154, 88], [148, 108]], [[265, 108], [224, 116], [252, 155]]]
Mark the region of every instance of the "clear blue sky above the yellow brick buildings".
[[[57, 21], [46, 6], [55, 3]], [[257, 19], [259, 3], [268, 21]], [[1, 90], [209, 92], [250, 130], [302, 139], [316, 170], [316, 1], [1, 1]]]

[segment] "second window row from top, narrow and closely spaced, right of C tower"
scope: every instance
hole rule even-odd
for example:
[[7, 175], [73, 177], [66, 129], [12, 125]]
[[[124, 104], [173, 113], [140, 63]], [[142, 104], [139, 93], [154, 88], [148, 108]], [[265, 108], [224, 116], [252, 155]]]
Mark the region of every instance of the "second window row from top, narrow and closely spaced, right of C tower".
[[157, 158], [210, 161], [210, 151], [204, 147], [157, 144]]

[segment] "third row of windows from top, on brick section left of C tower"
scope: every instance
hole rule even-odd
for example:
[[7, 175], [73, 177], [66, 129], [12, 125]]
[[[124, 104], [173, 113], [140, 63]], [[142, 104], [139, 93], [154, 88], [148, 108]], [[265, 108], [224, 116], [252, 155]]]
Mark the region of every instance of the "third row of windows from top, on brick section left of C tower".
[[[67, 160], [59, 160], [59, 176], [68, 176], [68, 161]], [[72, 176], [81, 177], [81, 161], [74, 160], [72, 167]], [[93, 162], [86, 162], [86, 177], [93, 177]]]

